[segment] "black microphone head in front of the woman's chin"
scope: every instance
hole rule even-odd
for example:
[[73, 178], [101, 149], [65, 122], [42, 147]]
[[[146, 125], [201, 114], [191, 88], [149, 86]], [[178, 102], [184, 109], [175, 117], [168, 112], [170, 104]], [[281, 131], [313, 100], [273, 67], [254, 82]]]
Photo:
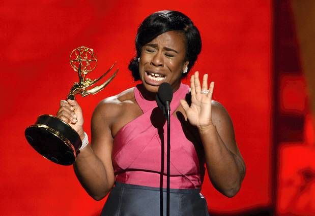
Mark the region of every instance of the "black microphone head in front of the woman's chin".
[[165, 115], [167, 111], [170, 111], [170, 101], [173, 99], [173, 89], [168, 83], [162, 83], [159, 86], [158, 93], [156, 95], [156, 102], [158, 107], [163, 111]]

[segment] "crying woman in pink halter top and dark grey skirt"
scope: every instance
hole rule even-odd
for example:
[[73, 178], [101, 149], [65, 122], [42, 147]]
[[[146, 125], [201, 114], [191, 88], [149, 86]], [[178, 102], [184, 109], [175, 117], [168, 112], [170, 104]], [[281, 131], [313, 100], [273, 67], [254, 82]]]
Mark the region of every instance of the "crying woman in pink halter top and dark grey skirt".
[[[111, 191], [102, 215], [160, 215], [160, 193], [165, 195], [160, 189], [166, 186], [166, 126], [155, 96], [159, 85], [167, 82], [174, 92], [170, 215], [208, 215], [199, 195], [204, 164], [214, 187], [227, 197], [239, 191], [245, 164], [230, 117], [211, 100], [214, 83], [208, 88], [208, 75], [202, 84], [198, 72], [192, 75], [190, 89], [181, 83], [201, 51], [199, 31], [180, 12], [156, 12], [139, 26], [136, 51], [129, 69], [142, 84], [98, 104], [92, 117], [93, 144], [80, 148], [75, 173], [94, 199]], [[57, 115], [87, 140], [76, 101], [62, 100]], [[165, 196], [163, 200], [166, 206]]]

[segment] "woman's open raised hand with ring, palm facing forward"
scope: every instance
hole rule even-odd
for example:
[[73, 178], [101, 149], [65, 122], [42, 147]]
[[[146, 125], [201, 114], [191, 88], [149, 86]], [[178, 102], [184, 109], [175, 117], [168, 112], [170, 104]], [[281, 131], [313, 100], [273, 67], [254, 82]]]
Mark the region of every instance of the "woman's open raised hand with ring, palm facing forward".
[[211, 121], [211, 100], [214, 89], [214, 82], [210, 83], [208, 89], [208, 75], [203, 77], [203, 84], [201, 86], [199, 81], [199, 73], [195, 72], [190, 77], [191, 89], [191, 104], [190, 106], [185, 100], [181, 100], [181, 104], [186, 113], [190, 124], [199, 129], [212, 125]]

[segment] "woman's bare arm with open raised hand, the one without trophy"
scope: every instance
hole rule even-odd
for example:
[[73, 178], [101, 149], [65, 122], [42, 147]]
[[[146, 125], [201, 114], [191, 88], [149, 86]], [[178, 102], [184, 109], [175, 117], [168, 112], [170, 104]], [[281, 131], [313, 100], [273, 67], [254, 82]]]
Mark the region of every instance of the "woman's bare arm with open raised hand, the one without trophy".
[[196, 72], [190, 87], [190, 106], [185, 100], [181, 104], [190, 124], [198, 128], [210, 180], [219, 192], [233, 197], [245, 176], [245, 163], [236, 145], [231, 118], [220, 103], [212, 100], [214, 83], [208, 89], [208, 75], [201, 86]]

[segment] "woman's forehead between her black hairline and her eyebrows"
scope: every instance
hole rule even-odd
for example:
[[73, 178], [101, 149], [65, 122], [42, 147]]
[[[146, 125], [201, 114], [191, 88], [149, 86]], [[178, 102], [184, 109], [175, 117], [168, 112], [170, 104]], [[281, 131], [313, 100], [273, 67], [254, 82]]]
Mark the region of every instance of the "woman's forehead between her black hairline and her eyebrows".
[[181, 31], [167, 31], [158, 35], [148, 44], [157, 44], [158, 46], [182, 50], [186, 48], [186, 37]]

